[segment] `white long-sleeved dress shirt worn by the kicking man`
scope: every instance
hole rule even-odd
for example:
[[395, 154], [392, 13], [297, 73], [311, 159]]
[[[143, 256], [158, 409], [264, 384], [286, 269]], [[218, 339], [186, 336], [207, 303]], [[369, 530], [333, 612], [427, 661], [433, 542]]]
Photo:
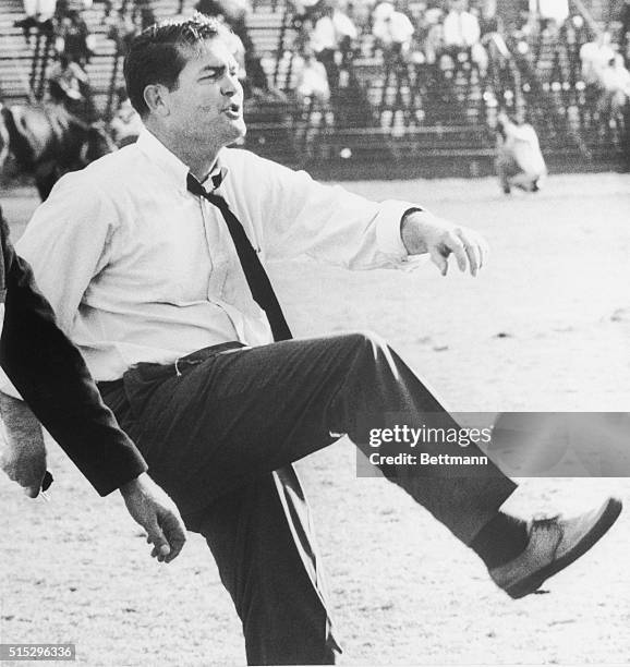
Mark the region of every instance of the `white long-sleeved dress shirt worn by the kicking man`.
[[[217, 194], [263, 260], [409, 267], [400, 220], [413, 204], [368, 202], [242, 149], [222, 149], [215, 169]], [[187, 192], [187, 173], [144, 129], [63, 177], [16, 244], [97, 380], [230, 340], [272, 340], [220, 211]]]

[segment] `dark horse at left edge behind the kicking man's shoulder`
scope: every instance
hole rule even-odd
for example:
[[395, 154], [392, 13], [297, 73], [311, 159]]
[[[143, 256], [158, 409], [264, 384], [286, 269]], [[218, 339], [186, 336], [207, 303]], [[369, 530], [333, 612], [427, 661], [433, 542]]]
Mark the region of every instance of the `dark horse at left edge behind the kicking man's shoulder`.
[[33, 173], [41, 199], [69, 171], [83, 169], [116, 147], [106, 132], [60, 105], [0, 105], [0, 168], [9, 153]]

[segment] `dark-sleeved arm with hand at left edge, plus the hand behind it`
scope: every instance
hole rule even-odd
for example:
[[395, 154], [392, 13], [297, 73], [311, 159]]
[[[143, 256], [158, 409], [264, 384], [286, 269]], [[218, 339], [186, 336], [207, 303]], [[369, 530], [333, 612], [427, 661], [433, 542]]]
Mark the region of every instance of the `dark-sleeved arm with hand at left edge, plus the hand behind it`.
[[101, 496], [120, 489], [154, 544], [152, 555], [171, 561], [185, 542], [179, 511], [147, 475], [144, 458], [104, 404], [81, 353], [57, 326], [29, 265], [13, 248], [1, 209], [0, 241], [0, 365], [28, 405], [0, 392], [7, 428], [0, 468], [29, 497], [39, 494], [46, 449], [35, 414]]

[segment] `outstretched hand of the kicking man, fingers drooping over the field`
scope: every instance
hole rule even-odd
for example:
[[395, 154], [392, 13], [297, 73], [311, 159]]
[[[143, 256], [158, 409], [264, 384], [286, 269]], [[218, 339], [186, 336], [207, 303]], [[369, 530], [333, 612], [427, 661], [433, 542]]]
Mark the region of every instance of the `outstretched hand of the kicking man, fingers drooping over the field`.
[[477, 275], [488, 254], [488, 245], [481, 234], [424, 210], [407, 214], [400, 233], [407, 252], [410, 255], [428, 253], [443, 276], [448, 271], [451, 253], [459, 270], [465, 271], [469, 267], [472, 276]]

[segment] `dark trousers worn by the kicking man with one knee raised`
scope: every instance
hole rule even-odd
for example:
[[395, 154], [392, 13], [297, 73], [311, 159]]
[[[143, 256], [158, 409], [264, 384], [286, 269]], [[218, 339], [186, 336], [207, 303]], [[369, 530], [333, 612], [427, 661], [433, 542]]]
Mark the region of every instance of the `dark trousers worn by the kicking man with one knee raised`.
[[[389, 347], [363, 333], [219, 345], [177, 365], [140, 364], [123, 388], [104, 393], [152, 476], [206, 537], [256, 664], [334, 657], [310, 518], [291, 520], [301, 505], [287, 497], [301, 489], [282, 480], [292, 474], [287, 466], [339, 433], [372, 453], [369, 428], [392, 415], [410, 427], [457, 426]], [[461, 448], [445, 444], [439, 452], [461, 456]], [[385, 472], [465, 544], [516, 488], [492, 464], [467, 474], [410, 470]]]

